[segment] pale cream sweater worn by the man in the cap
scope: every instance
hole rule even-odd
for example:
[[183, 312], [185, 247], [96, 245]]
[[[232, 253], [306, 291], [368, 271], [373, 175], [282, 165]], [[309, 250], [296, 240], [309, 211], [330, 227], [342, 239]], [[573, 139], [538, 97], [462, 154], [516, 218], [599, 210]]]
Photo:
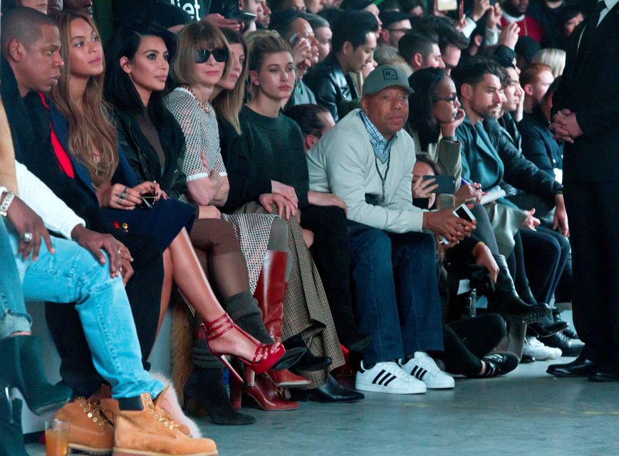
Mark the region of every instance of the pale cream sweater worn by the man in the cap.
[[[423, 211], [412, 205], [415, 144], [405, 130], [397, 132], [385, 180], [385, 201], [365, 202], [365, 194], [382, 196], [370, 136], [355, 109], [341, 119], [308, 151], [310, 190], [330, 192], [348, 207], [348, 218], [387, 232], [420, 232]], [[384, 176], [387, 163], [378, 161]]]

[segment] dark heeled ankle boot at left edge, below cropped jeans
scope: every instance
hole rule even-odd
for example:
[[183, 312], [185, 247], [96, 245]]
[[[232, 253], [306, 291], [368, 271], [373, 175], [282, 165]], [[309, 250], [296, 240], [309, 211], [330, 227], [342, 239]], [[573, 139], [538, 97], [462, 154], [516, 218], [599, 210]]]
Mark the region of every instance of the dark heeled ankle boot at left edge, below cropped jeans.
[[17, 388], [37, 415], [56, 410], [71, 398], [71, 388], [51, 385], [43, 372], [41, 341], [36, 336], [0, 339], [0, 388]]

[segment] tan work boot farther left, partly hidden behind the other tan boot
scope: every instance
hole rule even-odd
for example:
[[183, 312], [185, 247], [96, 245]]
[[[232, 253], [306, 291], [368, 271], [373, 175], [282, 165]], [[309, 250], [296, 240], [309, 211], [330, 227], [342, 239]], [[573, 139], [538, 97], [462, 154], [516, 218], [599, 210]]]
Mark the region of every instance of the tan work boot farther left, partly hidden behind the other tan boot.
[[77, 398], [56, 412], [55, 418], [69, 422], [69, 448], [91, 455], [110, 455], [114, 446], [114, 426], [100, 407], [86, 398]]

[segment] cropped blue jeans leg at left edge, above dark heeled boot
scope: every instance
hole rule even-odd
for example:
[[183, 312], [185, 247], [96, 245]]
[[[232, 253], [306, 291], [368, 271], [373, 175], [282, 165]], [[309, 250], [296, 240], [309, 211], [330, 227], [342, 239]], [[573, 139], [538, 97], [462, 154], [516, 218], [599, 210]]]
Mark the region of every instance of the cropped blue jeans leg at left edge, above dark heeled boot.
[[31, 318], [26, 314], [15, 255], [4, 220], [0, 217], [0, 338], [31, 330]]

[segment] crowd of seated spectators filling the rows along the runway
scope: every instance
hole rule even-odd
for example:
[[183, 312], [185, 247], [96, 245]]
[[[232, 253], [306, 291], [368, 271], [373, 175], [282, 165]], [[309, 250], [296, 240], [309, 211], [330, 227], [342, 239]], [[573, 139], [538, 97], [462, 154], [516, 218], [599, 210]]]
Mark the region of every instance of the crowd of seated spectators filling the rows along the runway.
[[[0, 385], [68, 420], [71, 448], [215, 455], [185, 413], [251, 424], [248, 400], [578, 356], [549, 125], [585, 4], [112, 3], [105, 42], [96, 2], [1, 11]], [[58, 385], [24, 301], [46, 302]], [[166, 314], [171, 379], [149, 373]], [[0, 455], [26, 455], [20, 413], [0, 398]]]

